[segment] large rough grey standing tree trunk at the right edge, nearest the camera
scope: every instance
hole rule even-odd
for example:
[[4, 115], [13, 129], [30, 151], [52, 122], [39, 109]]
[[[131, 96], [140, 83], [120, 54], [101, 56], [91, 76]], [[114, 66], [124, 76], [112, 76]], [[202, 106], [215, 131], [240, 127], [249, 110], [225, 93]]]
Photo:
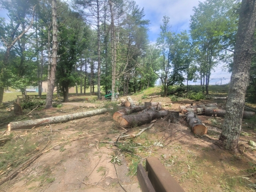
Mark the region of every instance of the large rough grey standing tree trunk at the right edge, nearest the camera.
[[245, 93], [249, 84], [255, 23], [256, 1], [242, 0], [234, 49], [234, 65], [226, 105], [227, 111], [220, 135], [220, 140], [227, 150], [236, 150], [238, 147]]

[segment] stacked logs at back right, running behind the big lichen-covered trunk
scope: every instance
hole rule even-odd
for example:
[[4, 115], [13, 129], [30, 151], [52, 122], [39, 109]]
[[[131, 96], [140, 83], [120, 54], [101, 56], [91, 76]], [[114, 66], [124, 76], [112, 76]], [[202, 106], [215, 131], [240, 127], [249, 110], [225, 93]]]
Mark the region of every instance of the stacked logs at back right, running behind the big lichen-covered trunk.
[[[226, 114], [225, 109], [220, 109], [217, 103], [206, 104], [206, 105], [190, 105], [190, 106], [179, 106], [179, 111], [181, 114], [187, 114], [189, 111], [196, 112], [198, 115], [204, 114], [207, 116], [218, 116], [224, 117]], [[251, 111], [244, 111], [243, 118], [251, 118], [255, 113]]]

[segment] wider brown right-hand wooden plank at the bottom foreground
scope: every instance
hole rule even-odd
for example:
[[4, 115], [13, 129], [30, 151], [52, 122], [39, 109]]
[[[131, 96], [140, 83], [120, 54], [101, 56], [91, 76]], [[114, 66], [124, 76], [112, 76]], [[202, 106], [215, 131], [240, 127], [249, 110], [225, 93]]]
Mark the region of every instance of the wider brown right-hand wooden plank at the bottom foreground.
[[156, 157], [146, 159], [146, 171], [157, 192], [185, 192]]

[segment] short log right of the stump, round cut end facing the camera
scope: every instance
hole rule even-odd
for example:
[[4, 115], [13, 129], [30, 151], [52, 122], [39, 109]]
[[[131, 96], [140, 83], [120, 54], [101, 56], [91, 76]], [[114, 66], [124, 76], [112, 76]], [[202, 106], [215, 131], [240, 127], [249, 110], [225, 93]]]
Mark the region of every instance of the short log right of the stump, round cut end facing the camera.
[[207, 133], [206, 126], [202, 121], [196, 116], [193, 111], [190, 111], [186, 114], [186, 119], [191, 128], [191, 131], [197, 135], [204, 135]]

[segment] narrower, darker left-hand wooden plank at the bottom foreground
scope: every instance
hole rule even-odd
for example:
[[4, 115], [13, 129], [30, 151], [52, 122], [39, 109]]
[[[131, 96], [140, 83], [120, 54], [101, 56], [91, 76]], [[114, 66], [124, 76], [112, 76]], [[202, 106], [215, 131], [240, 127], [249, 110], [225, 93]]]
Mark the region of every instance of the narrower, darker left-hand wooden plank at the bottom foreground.
[[141, 164], [138, 164], [137, 167], [137, 178], [139, 180], [142, 192], [155, 192], [155, 189], [152, 186], [148, 175]]

